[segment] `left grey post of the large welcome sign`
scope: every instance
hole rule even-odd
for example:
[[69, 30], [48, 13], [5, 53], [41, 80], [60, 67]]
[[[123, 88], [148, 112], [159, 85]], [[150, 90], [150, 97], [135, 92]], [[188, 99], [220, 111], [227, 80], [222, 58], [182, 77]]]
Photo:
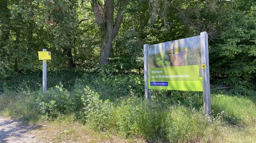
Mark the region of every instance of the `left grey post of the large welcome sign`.
[[151, 90], [148, 89], [148, 44], [143, 45], [144, 48], [144, 79], [145, 79], [145, 98], [151, 100]]

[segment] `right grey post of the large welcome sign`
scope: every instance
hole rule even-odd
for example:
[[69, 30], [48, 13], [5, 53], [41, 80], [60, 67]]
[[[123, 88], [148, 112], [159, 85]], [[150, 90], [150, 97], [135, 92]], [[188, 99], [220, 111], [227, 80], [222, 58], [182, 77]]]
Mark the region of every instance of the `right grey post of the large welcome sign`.
[[209, 73], [209, 55], [208, 55], [208, 34], [201, 32], [201, 58], [202, 65], [202, 78], [203, 78], [203, 96], [204, 96], [204, 114], [211, 116], [211, 103], [210, 103], [210, 73]]

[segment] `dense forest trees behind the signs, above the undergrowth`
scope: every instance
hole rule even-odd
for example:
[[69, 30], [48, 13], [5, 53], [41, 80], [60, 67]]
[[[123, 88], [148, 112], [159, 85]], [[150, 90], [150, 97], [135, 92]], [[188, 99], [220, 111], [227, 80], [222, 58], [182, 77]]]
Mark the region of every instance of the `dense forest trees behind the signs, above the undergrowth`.
[[255, 86], [253, 0], [1, 0], [0, 77], [41, 69], [37, 51], [52, 53], [49, 70], [111, 64], [143, 69], [143, 44], [206, 31], [211, 83]]

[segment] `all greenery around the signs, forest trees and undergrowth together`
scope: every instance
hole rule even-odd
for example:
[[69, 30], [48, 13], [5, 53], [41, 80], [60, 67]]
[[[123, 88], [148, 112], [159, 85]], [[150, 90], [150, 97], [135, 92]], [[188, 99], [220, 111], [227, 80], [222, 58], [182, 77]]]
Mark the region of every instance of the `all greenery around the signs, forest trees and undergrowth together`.
[[[143, 101], [143, 44], [200, 32], [213, 117], [205, 120], [200, 92], [152, 90]], [[52, 56], [46, 93], [42, 49]], [[255, 94], [255, 0], [0, 0], [2, 116], [52, 126], [68, 118], [100, 136], [152, 142], [254, 142]]]

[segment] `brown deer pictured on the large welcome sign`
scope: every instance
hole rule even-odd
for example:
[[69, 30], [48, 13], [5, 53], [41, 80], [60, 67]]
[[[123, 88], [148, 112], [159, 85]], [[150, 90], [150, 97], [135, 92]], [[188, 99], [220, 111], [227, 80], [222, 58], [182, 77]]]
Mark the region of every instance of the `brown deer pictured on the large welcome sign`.
[[173, 54], [174, 42], [171, 43], [169, 48], [169, 59], [172, 67], [184, 66], [187, 60], [187, 51], [183, 50], [177, 54]]

